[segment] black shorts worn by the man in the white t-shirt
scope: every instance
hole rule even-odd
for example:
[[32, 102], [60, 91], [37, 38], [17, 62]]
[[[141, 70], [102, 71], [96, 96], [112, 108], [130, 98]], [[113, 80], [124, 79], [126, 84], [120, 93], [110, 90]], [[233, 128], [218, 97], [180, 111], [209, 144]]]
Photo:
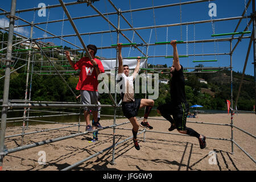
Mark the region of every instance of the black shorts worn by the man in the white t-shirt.
[[122, 102], [123, 115], [128, 119], [136, 117], [139, 106], [141, 106], [141, 98], [135, 98], [134, 102]]

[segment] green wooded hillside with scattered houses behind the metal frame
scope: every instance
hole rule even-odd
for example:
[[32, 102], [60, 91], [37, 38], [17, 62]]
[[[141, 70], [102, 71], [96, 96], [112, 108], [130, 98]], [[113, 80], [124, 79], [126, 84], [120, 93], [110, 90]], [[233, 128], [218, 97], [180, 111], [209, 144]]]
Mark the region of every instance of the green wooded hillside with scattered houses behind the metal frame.
[[[0, 34], [0, 40], [7, 41], [8, 34]], [[14, 37], [14, 40], [18, 39]], [[6, 47], [6, 44], [3, 44], [3, 47]], [[24, 47], [20, 46], [19, 49]], [[16, 48], [14, 48], [16, 49]], [[64, 49], [71, 49], [69, 47], [64, 47]], [[33, 51], [38, 51], [33, 49]], [[81, 57], [81, 52], [71, 51], [73, 55], [77, 57]], [[6, 50], [2, 53], [6, 53]], [[46, 52], [47, 56], [51, 58], [52, 63], [59, 71], [72, 71], [72, 68], [63, 67], [63, 63], [61, 61], [57, 62], [56, 60], [65, 60], [65, 56], [61, 55], [59, 52], [48, 51]], [[5, 58], [3, 54], [1, 54], [1, 59]], [[27, 53], [13, 55], [15, 57], [20, 57], [19, 61], [15, 61], [12, 66], [15, 64], [14, 69], [24, 65], [26, 61], [22, 59], [27, 59]], [[16, 59], [14, 59], [16, 60]], [[34, 54], [34, 60], [47, 61], [46, 57], [41, 53]], [[0, 77], [5, 74], [5, 65], [1, 61], [1, 69], [0, 69]], [[50, 65], [49, 63], [44, 63], [46, 65]], [[42, 64], [32, 64], [34, 66], [34, 70], [47, 70], [49, 68], [42, 68]], [[198, 65], [198, 67], [202, 67], [203, 65]], [[150, 65], [149, 68], [153, 67]], [[154, 65], [156, 67], [156, 65]], [[162, 67], [166, 67], [167, 65], [163, 65]], [[24, 90], [26, 85], [26, 67], [11, 73], [10, 77], [10, 90], [9, 90], [9, 98], [12, 100], [24, 100]], [[51, 68], [53, 71], [53, 68]], [[144, 71], [143, 71], [144, 72]], [[30, 73], [31, 74], [31, 73]], [[187, 100], [189, 105], [199, 104], [204, 106], [204, 109], [214, 109], [214, 110], [226, 110], [226, 100], [230, 100], [230, 71], [225, 69], [223, 71], [218, 71], [216, 73], [184, 73], [185, 75], [185, 92], [187, 94]], [[68, 85], [72, 88], [72, 90], [79, 95], [79, 91], [75, 90], [76, 84], [79, 80], [79, 73], [71, 74], [71, 75], [63, 75], [65, 80], [68, 82]], [[233, 101], [236, 100], [238, 86], [240, 84], [240, 80], [242, 77], [241, 72], [233, 72]], [[31, 78], [31, 75], [30, 75]], [[160, 79], [169, 79], [169, 74], [159, 73]], [[200, 83], [199, 78], [207, 81], [207, 84]], [[3, 83], [4, 78], [0, 79], [0, 98], [3, 97]], [[30, 85], [30, 84], [29, 84]], [[245, 75], [242, 90], [240, 93], [240, 98], [238, 100], [238, 110], [253, 110], [254, 106], [254, 77], [250, 75]], [[112, 94], [114, 97], [114, 94]], [[135, 97], [144, 98], [144, 94], [135, 94]], [[119, 101], [121, 97], [117, 94], [117, 100]], [[73, 96], [71, 91], [68, 89], [68, 86], [64, 84], [59, 75], [41, 75], [41, 74], [32, 74], [32, 83], [31, 83], [31, 100], [32, 101], [77, 101]], [[155, 100], [155, 106], [164, 104], [165, 102], [170, 101], [170, 85], [165, 83], [159, 84], [159, 97]], [[101, 104], [112, 104], [112, 101], [109, 98], [108, 94], [101, 94]]]

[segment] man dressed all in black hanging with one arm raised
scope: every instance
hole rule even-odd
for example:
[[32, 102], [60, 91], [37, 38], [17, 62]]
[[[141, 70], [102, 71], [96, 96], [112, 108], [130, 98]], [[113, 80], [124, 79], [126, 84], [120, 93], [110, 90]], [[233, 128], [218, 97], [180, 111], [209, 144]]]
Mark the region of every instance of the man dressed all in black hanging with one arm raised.
[[[187, 115], [189, 105], [185, 96], [185, 80], [183, 75], [183, 67], [179, 62], [179, 55], [177, 53], [176, 40], [171, 41], [174, 48], [174, 61], [170, 70], [171, 73], [171, 102], [163, 104], [157, 108], [159, 114], [171, 122], [171, 127], [168, 129], [172, 131], [177, 129], [179, 133], [191, 135], [199, 139], [200, 148], [206, 147], [205, 136], [200, 135], [195, 130], [186, 127]], [[172, 117], [173, 119], [172, 119]]]

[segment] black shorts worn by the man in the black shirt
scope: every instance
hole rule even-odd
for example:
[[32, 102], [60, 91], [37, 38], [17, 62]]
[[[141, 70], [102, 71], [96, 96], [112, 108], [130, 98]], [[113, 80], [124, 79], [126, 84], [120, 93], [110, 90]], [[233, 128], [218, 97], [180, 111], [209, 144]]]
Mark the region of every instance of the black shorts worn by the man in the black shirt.
[[186, 122], [189, 112], [189, 105], [187, 102], [180, 102], [178, 104], [172, 104], [172, 102], [168, 102], [166, 104], [160, 105], [157, 109], [162, 115], [172, 115], [177, 130], [187, 130]]

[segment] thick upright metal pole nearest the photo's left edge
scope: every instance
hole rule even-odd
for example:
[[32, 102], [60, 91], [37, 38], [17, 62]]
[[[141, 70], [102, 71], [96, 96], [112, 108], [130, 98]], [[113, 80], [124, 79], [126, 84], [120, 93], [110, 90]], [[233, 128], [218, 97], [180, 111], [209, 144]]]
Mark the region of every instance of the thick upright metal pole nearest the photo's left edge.
[[[7, 54], [6, 54], [6, 69], [5, 69], [5, 85], [3, 86], [3, 105], [8, 104], [9, 100], [9, 86], [10, 86], [10, 72], [11, 72], [11, 52], [13, 49], [13, 30], [14, 30], [14, 15], [16, 9], [16, 0], [11, 1], [11, 14], [9, 24], [9, 35], [7, 43]], [[5, 150], [5, 130], [6, 130], [6, 118], [7, 118], [8, 107], [2, 108], [2, 120], [0, 130], [0, 153]], [[3, 155], [0, 154], [0, 171], [3, 168]]]

